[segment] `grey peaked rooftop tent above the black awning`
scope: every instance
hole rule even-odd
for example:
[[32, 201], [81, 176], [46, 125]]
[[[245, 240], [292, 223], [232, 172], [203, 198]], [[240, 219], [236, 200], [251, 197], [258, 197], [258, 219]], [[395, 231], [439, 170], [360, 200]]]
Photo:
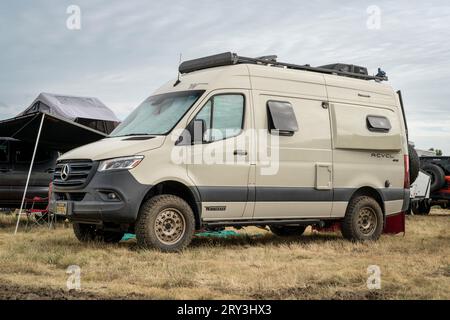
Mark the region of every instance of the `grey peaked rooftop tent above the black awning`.
[[119, 124], [114, 112], [99, 99], [93, 97], [76, 97], [52, 93], [40, 93], [31, 105], [19, 116], [44, 112], [90, 127], [106, 134]]

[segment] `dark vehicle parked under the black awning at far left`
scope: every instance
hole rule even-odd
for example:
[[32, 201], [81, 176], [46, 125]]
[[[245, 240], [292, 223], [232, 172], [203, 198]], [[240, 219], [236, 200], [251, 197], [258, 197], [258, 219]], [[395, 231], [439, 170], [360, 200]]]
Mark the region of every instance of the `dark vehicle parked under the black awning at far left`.
[[[34, 145], [13, 138], [0, 138], [0, 208], [18, 208], [27, 181]], [[38, 148], [27, 197], [45, 198], [59, 154]]]

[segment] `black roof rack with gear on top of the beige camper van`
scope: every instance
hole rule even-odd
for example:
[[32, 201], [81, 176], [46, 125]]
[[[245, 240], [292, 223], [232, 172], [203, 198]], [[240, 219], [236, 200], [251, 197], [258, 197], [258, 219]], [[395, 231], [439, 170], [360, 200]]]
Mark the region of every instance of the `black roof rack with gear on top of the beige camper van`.
[[339, 76], [357, 78], [361, 80], [375, 80], [375, 81], [387, 81], [388, 77], [386, 73], [381, 69], [378, 69], [378, 74], [371, 76], [367, 73], [367, 68], [355, 66], [351, 64], [336, 63], [320, 67], [311, 67], [308, 64], [298, 65], [292, 63], [285, 63], [277, 61], [277, 56], [263, 56], [258, 58], [248, 58], [238, 56], [236, 53], [224, 52], [207, 56], [203, 58], [187, 60], [180, 64], [178, 71], [182, 74], [194, 72], [197, 70], [209, 69], [214, 67], [229, 66], [235, 64], [260, 64], [272, 67], [280, 67], [294, 70], [303, 70], [311, 72], [319, 72], [326, 74], [335, 74]]

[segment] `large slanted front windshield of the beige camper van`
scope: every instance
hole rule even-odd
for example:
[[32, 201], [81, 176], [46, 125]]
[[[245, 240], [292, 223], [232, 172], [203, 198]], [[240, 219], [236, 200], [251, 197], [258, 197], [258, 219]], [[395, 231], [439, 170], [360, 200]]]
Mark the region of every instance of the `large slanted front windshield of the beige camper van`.
[[204, 90], [164, 93], [147, 98], [111, 134], [166, 135], [200, 98]]

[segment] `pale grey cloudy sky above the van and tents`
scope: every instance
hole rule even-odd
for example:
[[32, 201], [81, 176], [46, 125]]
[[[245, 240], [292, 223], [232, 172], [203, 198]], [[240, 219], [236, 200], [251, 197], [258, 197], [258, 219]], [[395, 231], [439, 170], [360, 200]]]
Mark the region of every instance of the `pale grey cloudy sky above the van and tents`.
[[[70, 5], [81, 9], [80, 30], [66, 26]], [[180, 53], [277, 54], [381, 66], [403, 92], [410, 140], [450, 155], [449, 39], [446, 0], [4, 0], [0, 119], [42, 91], [98, 97], [123, 119], [176, 76]]]

